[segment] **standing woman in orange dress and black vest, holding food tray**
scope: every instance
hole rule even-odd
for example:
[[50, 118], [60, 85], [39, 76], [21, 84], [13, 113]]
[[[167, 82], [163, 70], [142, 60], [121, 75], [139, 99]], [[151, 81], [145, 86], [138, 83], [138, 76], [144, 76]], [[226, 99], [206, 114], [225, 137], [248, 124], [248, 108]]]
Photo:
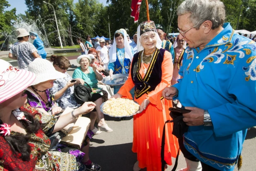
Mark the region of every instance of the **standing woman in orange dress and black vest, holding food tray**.
[[[171, 85], [173, 65], [171, 53], [162, 49], [155, 24], [143, 22], [138, 27], [138, 53], [133, 57], [128, 80], [114, 98], [132, 99], [130, 90], [135, 87], [135, 101], [140, 111], [133, 117], [133, 148], [138, 161], [133, 171], [161, 171], [161, 140], [164, 123], [171, 120], [171, 101], [162, 97], [162, 90]], [[179, 149], [177, 138], [171, 134], [173, 125], [166, 125], [164, 160], [171, 165]]]

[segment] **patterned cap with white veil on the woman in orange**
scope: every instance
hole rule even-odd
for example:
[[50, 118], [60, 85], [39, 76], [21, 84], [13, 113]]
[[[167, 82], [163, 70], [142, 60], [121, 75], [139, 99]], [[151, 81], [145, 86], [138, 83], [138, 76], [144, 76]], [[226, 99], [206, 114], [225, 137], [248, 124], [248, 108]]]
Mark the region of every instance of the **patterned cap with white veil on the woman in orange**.
[[155, 36], [157, 37], [156, 47], [158, 49], [162, 48], [162, 41], [157, 34], [155, 23], [153, 21], [146, 21], [146, 22], [142, 22], [137, 29], [137, 47], [138, 47], [137, 53], [144, 50], [143, 46], [140, 43], [140, 36], [147, 31], [155, 31]]

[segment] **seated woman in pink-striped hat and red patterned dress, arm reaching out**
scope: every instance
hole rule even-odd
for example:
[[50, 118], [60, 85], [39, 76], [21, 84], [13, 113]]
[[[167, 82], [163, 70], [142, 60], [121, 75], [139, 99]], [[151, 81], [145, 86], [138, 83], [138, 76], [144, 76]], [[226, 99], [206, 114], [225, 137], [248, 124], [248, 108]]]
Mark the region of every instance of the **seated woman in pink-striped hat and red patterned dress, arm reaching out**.
[[48, 151], [51, 141], [46, 136], [49, 132], [61, 130], [77, 116], [92, 111], [93, 102], [57, 119], [26, 104], [24, 89], [36, 79], [34, 73], [17, 70], [4, 60], [0, 60], [0, 73], [1, 81], [5, 82], [0, 87], [0, 170], [85, 171], [82, 163], [90, 163], [88, 168], [97, 168], [94, 171], [101, 170], [89, 158], [84, 157], [79, 163], [70, 153]]

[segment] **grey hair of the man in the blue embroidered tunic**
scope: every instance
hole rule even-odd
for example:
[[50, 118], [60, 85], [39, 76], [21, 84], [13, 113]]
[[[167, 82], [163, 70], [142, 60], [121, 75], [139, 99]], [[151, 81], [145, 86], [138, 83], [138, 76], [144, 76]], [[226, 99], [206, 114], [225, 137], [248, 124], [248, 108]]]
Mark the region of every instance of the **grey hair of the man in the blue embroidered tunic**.
[[189, 19], [196, 29], [206, 20], [210, 20], [212, 29], [216, 29], [224, 23], [225, 6], [220, 0], [185, 0], [177, 10], [178, 16], [184, 14], [191, 14]]

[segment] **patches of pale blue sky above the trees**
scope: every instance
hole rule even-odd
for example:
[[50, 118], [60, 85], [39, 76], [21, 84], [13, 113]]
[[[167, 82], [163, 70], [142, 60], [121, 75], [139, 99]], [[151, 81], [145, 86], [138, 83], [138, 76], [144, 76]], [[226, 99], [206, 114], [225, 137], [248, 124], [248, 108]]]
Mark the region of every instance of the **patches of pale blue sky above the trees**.
[[[9, 4], [11, 5], [6, 10], [11, 10], [12, 8], [16, 7], [16, 14], [22, 13], [25, 14], [25, 11], [27, 10], [27, 6], [25, 5], [25, 0], [7, 0]], [[78, 0], [74, 0], [74, 2], [78, 2]], [[103, 3], [103, 5], [106, 5], [106, 0], [99, 0], [99, 2]]]

